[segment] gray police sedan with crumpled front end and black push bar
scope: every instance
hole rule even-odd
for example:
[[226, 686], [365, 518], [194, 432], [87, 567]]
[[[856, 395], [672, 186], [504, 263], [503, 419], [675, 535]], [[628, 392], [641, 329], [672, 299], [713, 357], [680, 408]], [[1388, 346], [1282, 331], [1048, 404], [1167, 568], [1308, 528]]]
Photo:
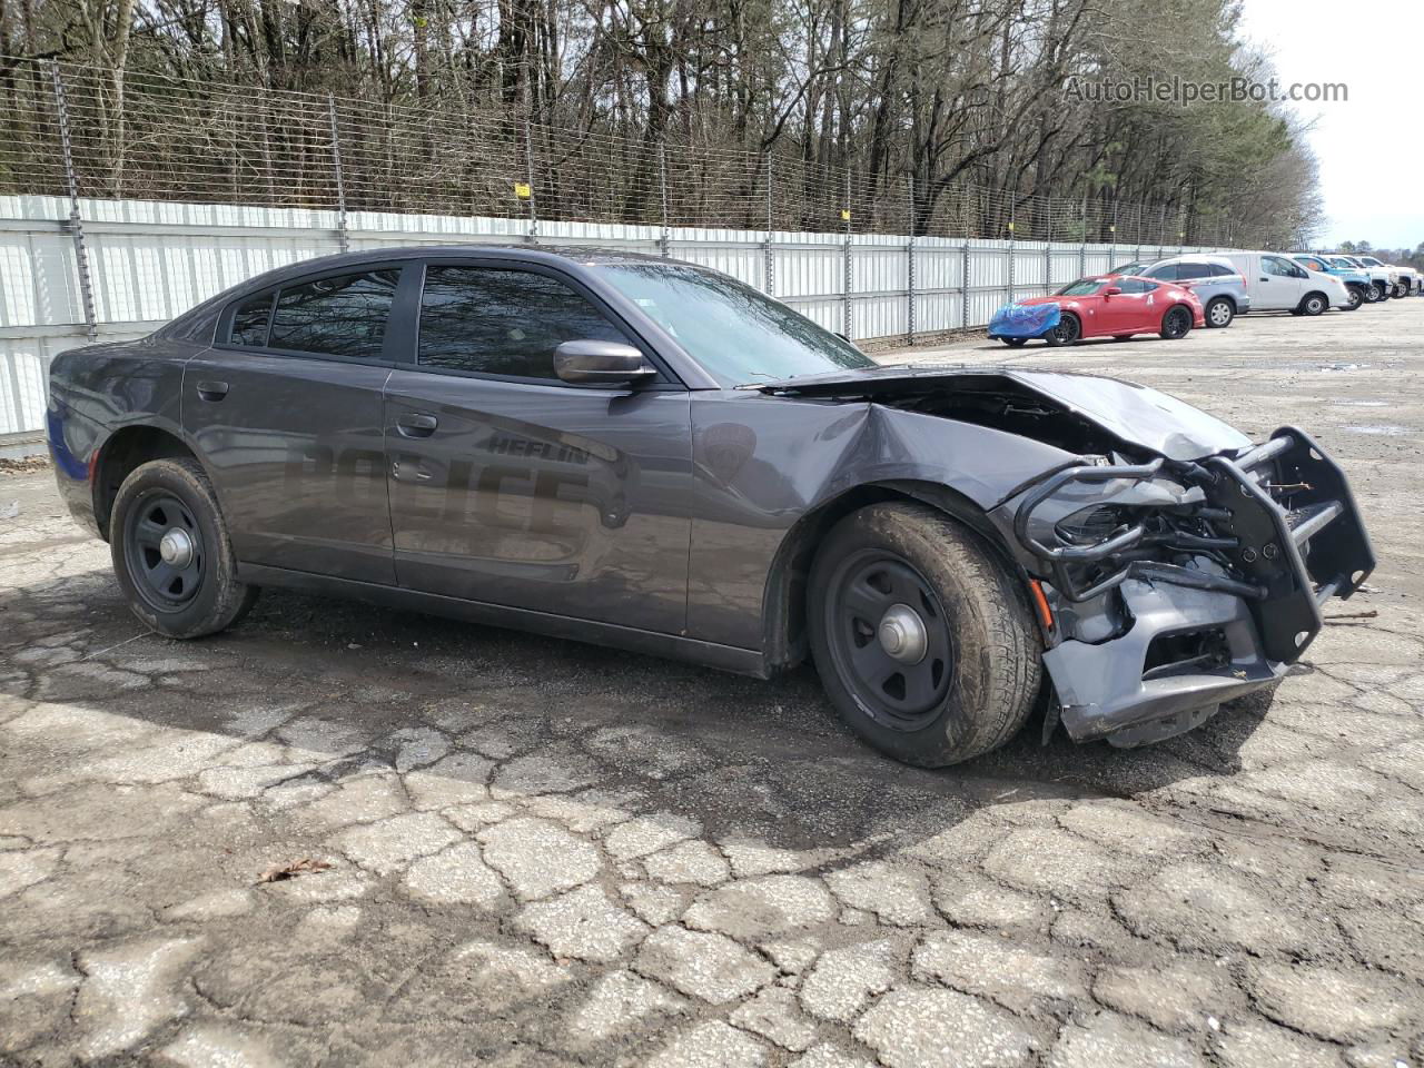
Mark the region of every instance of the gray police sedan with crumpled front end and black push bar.
[[1141, 745], [1277, 679], [1374, 567], [1340, 468], [1156, 390], [880, 367], [725, 275], [380, 249], [51, 369], [61, 493], [175, 638], [262, 587], [770, 676], [923, 766]]

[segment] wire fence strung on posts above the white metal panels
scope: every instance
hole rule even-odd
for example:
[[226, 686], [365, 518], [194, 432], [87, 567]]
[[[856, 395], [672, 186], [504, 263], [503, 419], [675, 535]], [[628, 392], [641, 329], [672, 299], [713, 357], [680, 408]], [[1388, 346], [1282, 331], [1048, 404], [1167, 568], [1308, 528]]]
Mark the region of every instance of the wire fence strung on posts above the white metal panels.
[[[1223, 244], [1176, 211], [1021, 197], [782, 152], [0, 60], [0, 194], [947, 238]], [[68, 151], [64, 148], [68, 141]], [[66, 159], [71, 169], [66, 172]]]

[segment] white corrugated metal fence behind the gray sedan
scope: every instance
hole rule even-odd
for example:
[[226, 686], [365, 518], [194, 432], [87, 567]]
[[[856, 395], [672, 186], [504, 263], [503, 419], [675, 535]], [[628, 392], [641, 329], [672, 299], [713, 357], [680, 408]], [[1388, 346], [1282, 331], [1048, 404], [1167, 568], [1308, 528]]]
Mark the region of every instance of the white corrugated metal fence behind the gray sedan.
[[[342, 239], [332, 211], [81, 199], [80, 212], [104, 342], [141, 337], [253, 275], [337, 252]], [[0, 436], [43, 427], [48, 363], [87, 337], [68, 215], [67, 199], [0, 197]], [[393, 212], [353, 212], [346, 239], [352, 249], [534, 239], [668, 255], [769, 290], [826, 329], [903, 340], [911, 305], [914, 335], [984, 326], [1011, 298], [1132, 258], [1195, 251]]]

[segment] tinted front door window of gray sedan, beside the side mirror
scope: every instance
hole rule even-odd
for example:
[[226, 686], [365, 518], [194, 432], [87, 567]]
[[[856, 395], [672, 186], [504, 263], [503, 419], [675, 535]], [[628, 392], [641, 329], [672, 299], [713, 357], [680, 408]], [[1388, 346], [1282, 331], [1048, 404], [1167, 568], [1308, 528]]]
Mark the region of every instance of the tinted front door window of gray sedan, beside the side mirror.
[[417, 347], [422, 366], [557, 382], [554, 349], [584, 339], [628, 343], [602, 312], [548, 275], [426, 268]]

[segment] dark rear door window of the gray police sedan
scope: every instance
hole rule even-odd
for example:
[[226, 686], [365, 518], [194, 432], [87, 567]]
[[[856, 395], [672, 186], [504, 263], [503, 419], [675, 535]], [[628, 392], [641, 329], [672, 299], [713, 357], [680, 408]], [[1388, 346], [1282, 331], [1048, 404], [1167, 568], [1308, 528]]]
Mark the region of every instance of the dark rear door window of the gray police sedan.
[[276, 298], [268, 347], [380, 359], [399, 282], [400, 271], [392, 268], [286, 286]]

